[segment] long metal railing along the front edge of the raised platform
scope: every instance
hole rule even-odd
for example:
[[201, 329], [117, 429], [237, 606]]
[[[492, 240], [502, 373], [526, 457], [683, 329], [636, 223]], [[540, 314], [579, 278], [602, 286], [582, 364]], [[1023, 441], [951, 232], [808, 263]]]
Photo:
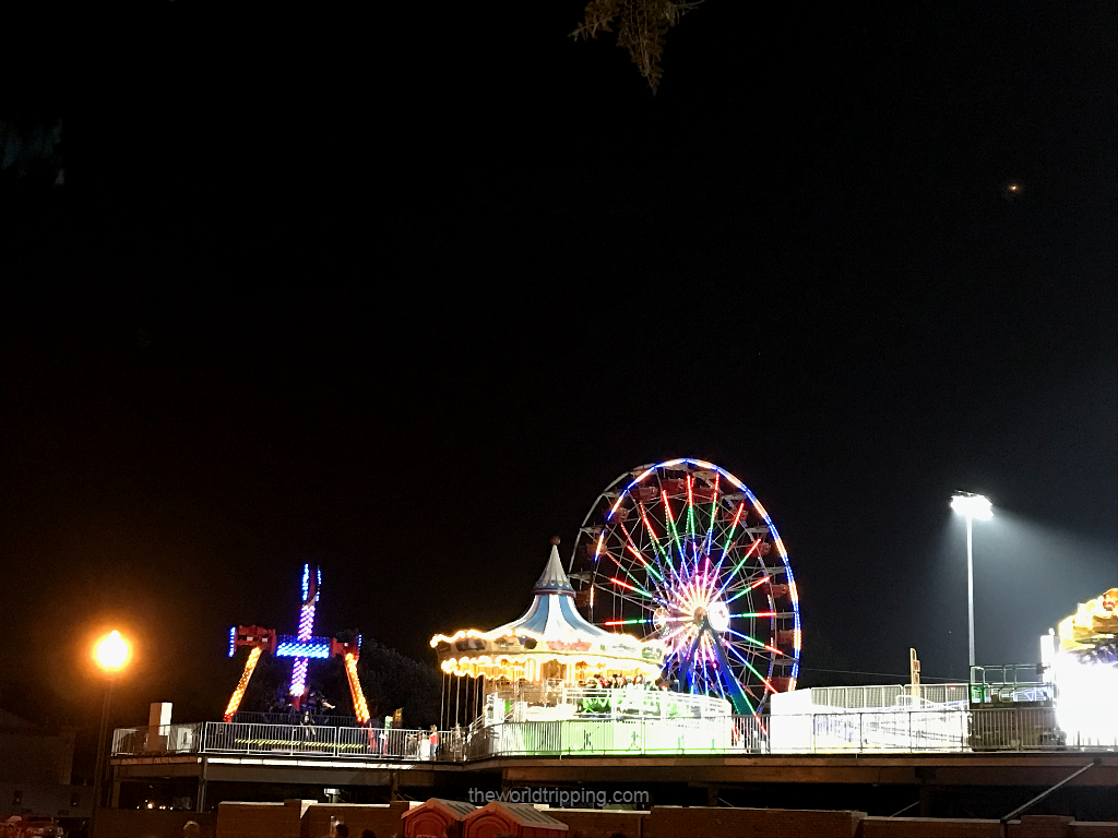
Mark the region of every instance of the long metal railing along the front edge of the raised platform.
[[1118, 733], [1061, 731], [1045, 707], [770, 716], [619, 714], [475, 723], [452, 731], [206, 722], [125, 727], [114, 755], [234, 753], [465, 762], [494, 756], [841, 754], [1118, 750]]

